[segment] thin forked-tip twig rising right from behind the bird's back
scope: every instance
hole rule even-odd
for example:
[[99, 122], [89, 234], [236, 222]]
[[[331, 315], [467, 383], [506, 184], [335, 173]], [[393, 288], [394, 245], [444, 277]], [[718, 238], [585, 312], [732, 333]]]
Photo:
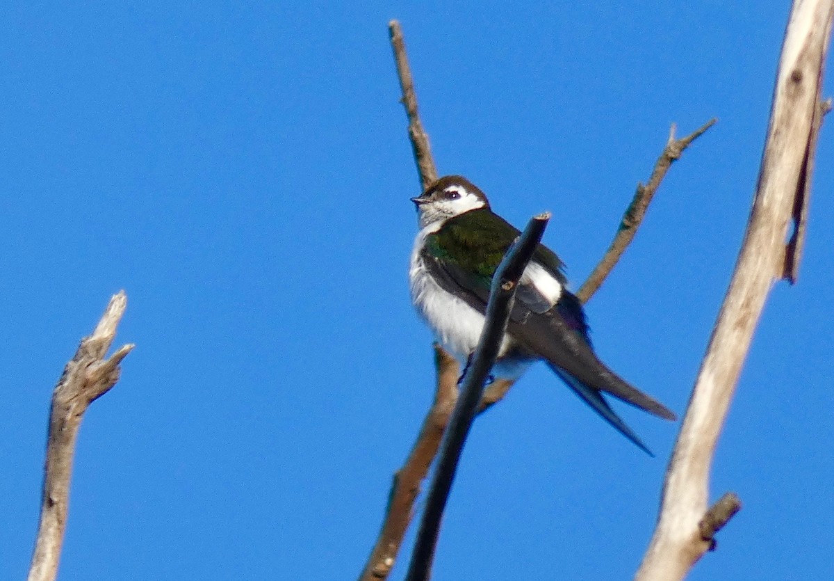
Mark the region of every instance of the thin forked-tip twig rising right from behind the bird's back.
[[676, 159], [681, 158], [684, 149], [689, 147], [693, 141], [701, 137], [702, 134], [716, 124], [717, 119], [710, 119], [700, 129], [694, 133], [687, 135], [683, 139], [675, 139], [675, 124], [672, 124], [669, 129], [669, 139], [666, 141], [666, 147], [663, 149], [661, 156], [657, 158], [654, 171], [651, 172], [651, 177], [646, 185], [637, 184], [637, 190], [631, 204], [625, 209], [623, 218], [620, 221], [620, 227], [611, 241], [611, 245], [605, 252], [605, 255], [600, 260], [590, 273], [588, 280], [585, 280], [580, 289], [576, 292], [576, 296], [583, 303], [588, 302], [591, 296], [599, 290], [600, 285], [608, 277], [611, 270], [620, 260], [625, 249], [634, 240], [634, 235], [637, 233], [637, 228], [640, 227], [643, 217], [646, 215], [646, 209], [651, 204], [651, 199], [654, 197], [657, 188], [660, 187], [661, 181], [666, 177], [666, 172], [671, 168], [671, 164]]

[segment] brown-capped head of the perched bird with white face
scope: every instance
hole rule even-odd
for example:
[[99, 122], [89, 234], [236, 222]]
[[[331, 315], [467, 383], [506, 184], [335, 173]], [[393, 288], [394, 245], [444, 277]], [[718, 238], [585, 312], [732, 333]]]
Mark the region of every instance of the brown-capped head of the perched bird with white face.
[[411, 201], [417, 206], [420, 228], [440, 225], [464, 212], [490, 207], [484, 192], [460, 175], [447, 175], [438, 179]]

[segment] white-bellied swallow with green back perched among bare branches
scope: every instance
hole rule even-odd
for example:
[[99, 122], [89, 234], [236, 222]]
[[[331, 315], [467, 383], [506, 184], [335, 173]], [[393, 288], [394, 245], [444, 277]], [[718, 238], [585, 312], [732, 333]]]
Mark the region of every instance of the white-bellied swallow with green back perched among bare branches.
[[[468, 361], [484, 326], [492, 276], [520, 232], [460, 175], [438, 179], [411, 201], [420, 222], [409, 268], [412, 301], [441, 344]], [[651, 455], [601, 392], [667, 420], [676, 419], [675, 414], [597, 358], [582, 305], [566, 288], [563, 266], [545, 245], [535, 250], [492, 373], [515, 379], [531, 363], [545, 361], [595, 412]]]

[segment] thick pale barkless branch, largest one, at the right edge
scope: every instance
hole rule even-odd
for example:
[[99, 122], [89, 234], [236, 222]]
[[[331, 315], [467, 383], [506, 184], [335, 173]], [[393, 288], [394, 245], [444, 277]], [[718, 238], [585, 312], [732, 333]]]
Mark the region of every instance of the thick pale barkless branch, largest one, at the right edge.
[[[804, 0], [791, 9], [747, 230], [730, 288], [701, 363], [681, 433], [672, 452], [655, 534], [636, 578], [684, 578], [708, 550], [699, 523], [709, 475], [741, 364], [775, 280], [785, 275], [785, 237], [810, 182], [815, 119], [820, 114], [834, 0]], [[794, 250], [796, 251], [796, 250]]]

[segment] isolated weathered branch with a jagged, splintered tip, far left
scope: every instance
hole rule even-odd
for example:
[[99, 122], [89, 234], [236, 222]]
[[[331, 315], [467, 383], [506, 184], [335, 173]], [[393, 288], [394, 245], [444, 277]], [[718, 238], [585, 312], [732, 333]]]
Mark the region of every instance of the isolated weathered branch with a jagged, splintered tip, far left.
[[78, 428], [90, 403], [116, 384], [121, 372], [119, 363], [133, 349], [128, 344], [104, 358], [113, 345], [116, 327], [127, 305], [124, 291], [113, 295], [93, 335], [81, 341], [55, 386], [49, 412], [40, 525], [28, 581], [51, 581], [58, 574]]

